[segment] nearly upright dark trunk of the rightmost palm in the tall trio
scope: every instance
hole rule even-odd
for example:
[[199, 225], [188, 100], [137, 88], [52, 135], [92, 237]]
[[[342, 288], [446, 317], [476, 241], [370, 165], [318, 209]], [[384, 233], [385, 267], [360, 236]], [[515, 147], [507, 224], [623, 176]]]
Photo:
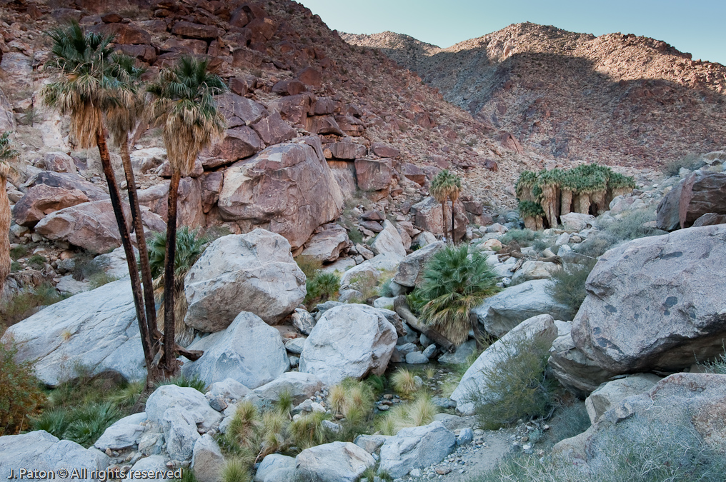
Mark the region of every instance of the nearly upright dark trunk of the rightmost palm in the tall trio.
[[179, 197], [179, 169], [172, 168], [166, 219], [166, 258], [164, 260], [164, 359], [168, 375], [176, 375], [179, 364], [174, 357], [174, 258], [176, 258], [176, 202]]

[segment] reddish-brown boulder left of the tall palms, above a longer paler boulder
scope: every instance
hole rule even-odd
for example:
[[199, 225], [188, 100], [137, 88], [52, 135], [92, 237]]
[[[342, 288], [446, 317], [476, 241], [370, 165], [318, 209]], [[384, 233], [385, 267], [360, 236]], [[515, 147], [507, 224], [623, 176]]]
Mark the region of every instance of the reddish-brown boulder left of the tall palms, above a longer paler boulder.
[[28, 189], [23, 198], [12, 208], [12, 217], [20, 226], [33, 227], [46, 214], [88, 203], [89, 197], [78, 189], [65, 189], [38, 184]]

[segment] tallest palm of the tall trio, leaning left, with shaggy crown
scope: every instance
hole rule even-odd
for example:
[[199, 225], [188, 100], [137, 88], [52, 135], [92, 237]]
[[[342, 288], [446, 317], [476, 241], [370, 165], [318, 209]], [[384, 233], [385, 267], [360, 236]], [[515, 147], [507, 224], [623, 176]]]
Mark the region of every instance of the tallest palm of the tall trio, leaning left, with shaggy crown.
[[70, 115], [70, 138], [78, 147], [98, 147], [101, 164], [108, 183], [111, 205], [121, 234], [123, 250], [129, 264], [131, 291], [134, 295], [136, 317], [142, 336], [144, 359], [147, 365], [147, 385], [160, 376], [153, 359], [156, 355], [151, 343], [151, 333], [144, 314], [144, 304], [136, 267], [134, 247], [121, 208], [121, 195], [116, 183], [110, 154], [106, 144], [104, 114], [120, 106], [133, 105], [133, 94], [113, 75], [110, 44], [113, 36], [84, 32], [78, 22], [66, 28], [57, 28], [49, 34], [53, 40], [52, 60], [49, 68], [60, 70], [60, 80], [49, 83], [41, 91], [46, 105], [62, 115]]

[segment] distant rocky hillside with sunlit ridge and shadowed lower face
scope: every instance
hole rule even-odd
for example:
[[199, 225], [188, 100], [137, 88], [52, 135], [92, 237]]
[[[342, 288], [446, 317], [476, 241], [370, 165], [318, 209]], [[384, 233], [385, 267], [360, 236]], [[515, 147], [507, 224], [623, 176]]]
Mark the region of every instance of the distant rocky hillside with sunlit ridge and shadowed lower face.
[[664, 41], [523, 23], [448, 49], [343, 34], [415, 70], [444, 99], [545, 157], [658, 166], [726, 144], [726, 68]]

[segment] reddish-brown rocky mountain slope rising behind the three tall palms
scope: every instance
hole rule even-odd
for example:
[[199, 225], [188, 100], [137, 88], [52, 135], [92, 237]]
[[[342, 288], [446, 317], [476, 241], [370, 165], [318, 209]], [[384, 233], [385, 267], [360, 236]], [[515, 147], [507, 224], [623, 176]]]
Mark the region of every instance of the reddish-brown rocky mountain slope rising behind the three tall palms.
[[[253, 20], [240, 28], [235, 26], [241, 23], [234, 12], [244, 5], [251, 6], [248, 17]], [[59, 146], [47, 145], [46, 139], [52, 137], [62, 143], [65, 135], [60, 120], [41, 110], [36, 93], [48, 78], [43, 62], [48, 58], [49, 38], [44, 33], [67, 18], [76, 18], [88, 28], [113, 25], [126, 36], [121, 40], [127, 44], [122, 46], [124, 51], [149, 65], [149, 76], [179, 52], [211, 56], [226, 79], [240, 75], [256, 78], [246, 96], [264, 105], [280, 101], [280, 94], [272, 91], [277, 81], [295, 78], [310, 66], [322, 77], [315, 95], [359, 107], [350, 114], [362, 120], [364, 132], [348, 139], [367, 147], [372, 142], [388, 142], [399, 148], [399, 173], [407, 170], [407, 163], [424, 168], [428, 177], [439, 168], [453, 166], [465, 176], [465, 189], [470, 194], [495, 205], [513, 205], [513, 197], [502, 187], [511, 186], [523, 168], [537, 168], [544, 161], [522, 149], [507, 133], [493, 131], [445, 102], [418, 75], [375, 49], [346, 44], [318, 15], [294, 1], [156, 0], [152, 4], [119, 5], [76, 0], [68, 7], [33, 0], [0, 7], [0, 38], [4, 39], [0, 47], [6, 57], [2, 64], [6, 70], [4, 90], [17, 120], [20, 124], [26, 120], [25, 125], [17, 126], [26, 160], [45, 150], [57, 150]], [[105, 15], [110, 12], [120, 14], [118, 18], [123, 20], [110, 19]], [[219, 30], [213, 33], [203, 31], [215, 27]], [[30, 120], [28, 112], [33, 114]], [[300, 132], [305, 134], [304, 129]], [[338, 136], [321, 137], [324, 143], [338, 140]], [[409, 192], [400, 192], [404, 197], [414, 191], [414, 197], [423, 195], [423, 188], [411, 187], [406, 180], [399, 183], [401, 188], [404, 184], [409, 187]], [[392, 193], [395, 200], [396, 189]]]

